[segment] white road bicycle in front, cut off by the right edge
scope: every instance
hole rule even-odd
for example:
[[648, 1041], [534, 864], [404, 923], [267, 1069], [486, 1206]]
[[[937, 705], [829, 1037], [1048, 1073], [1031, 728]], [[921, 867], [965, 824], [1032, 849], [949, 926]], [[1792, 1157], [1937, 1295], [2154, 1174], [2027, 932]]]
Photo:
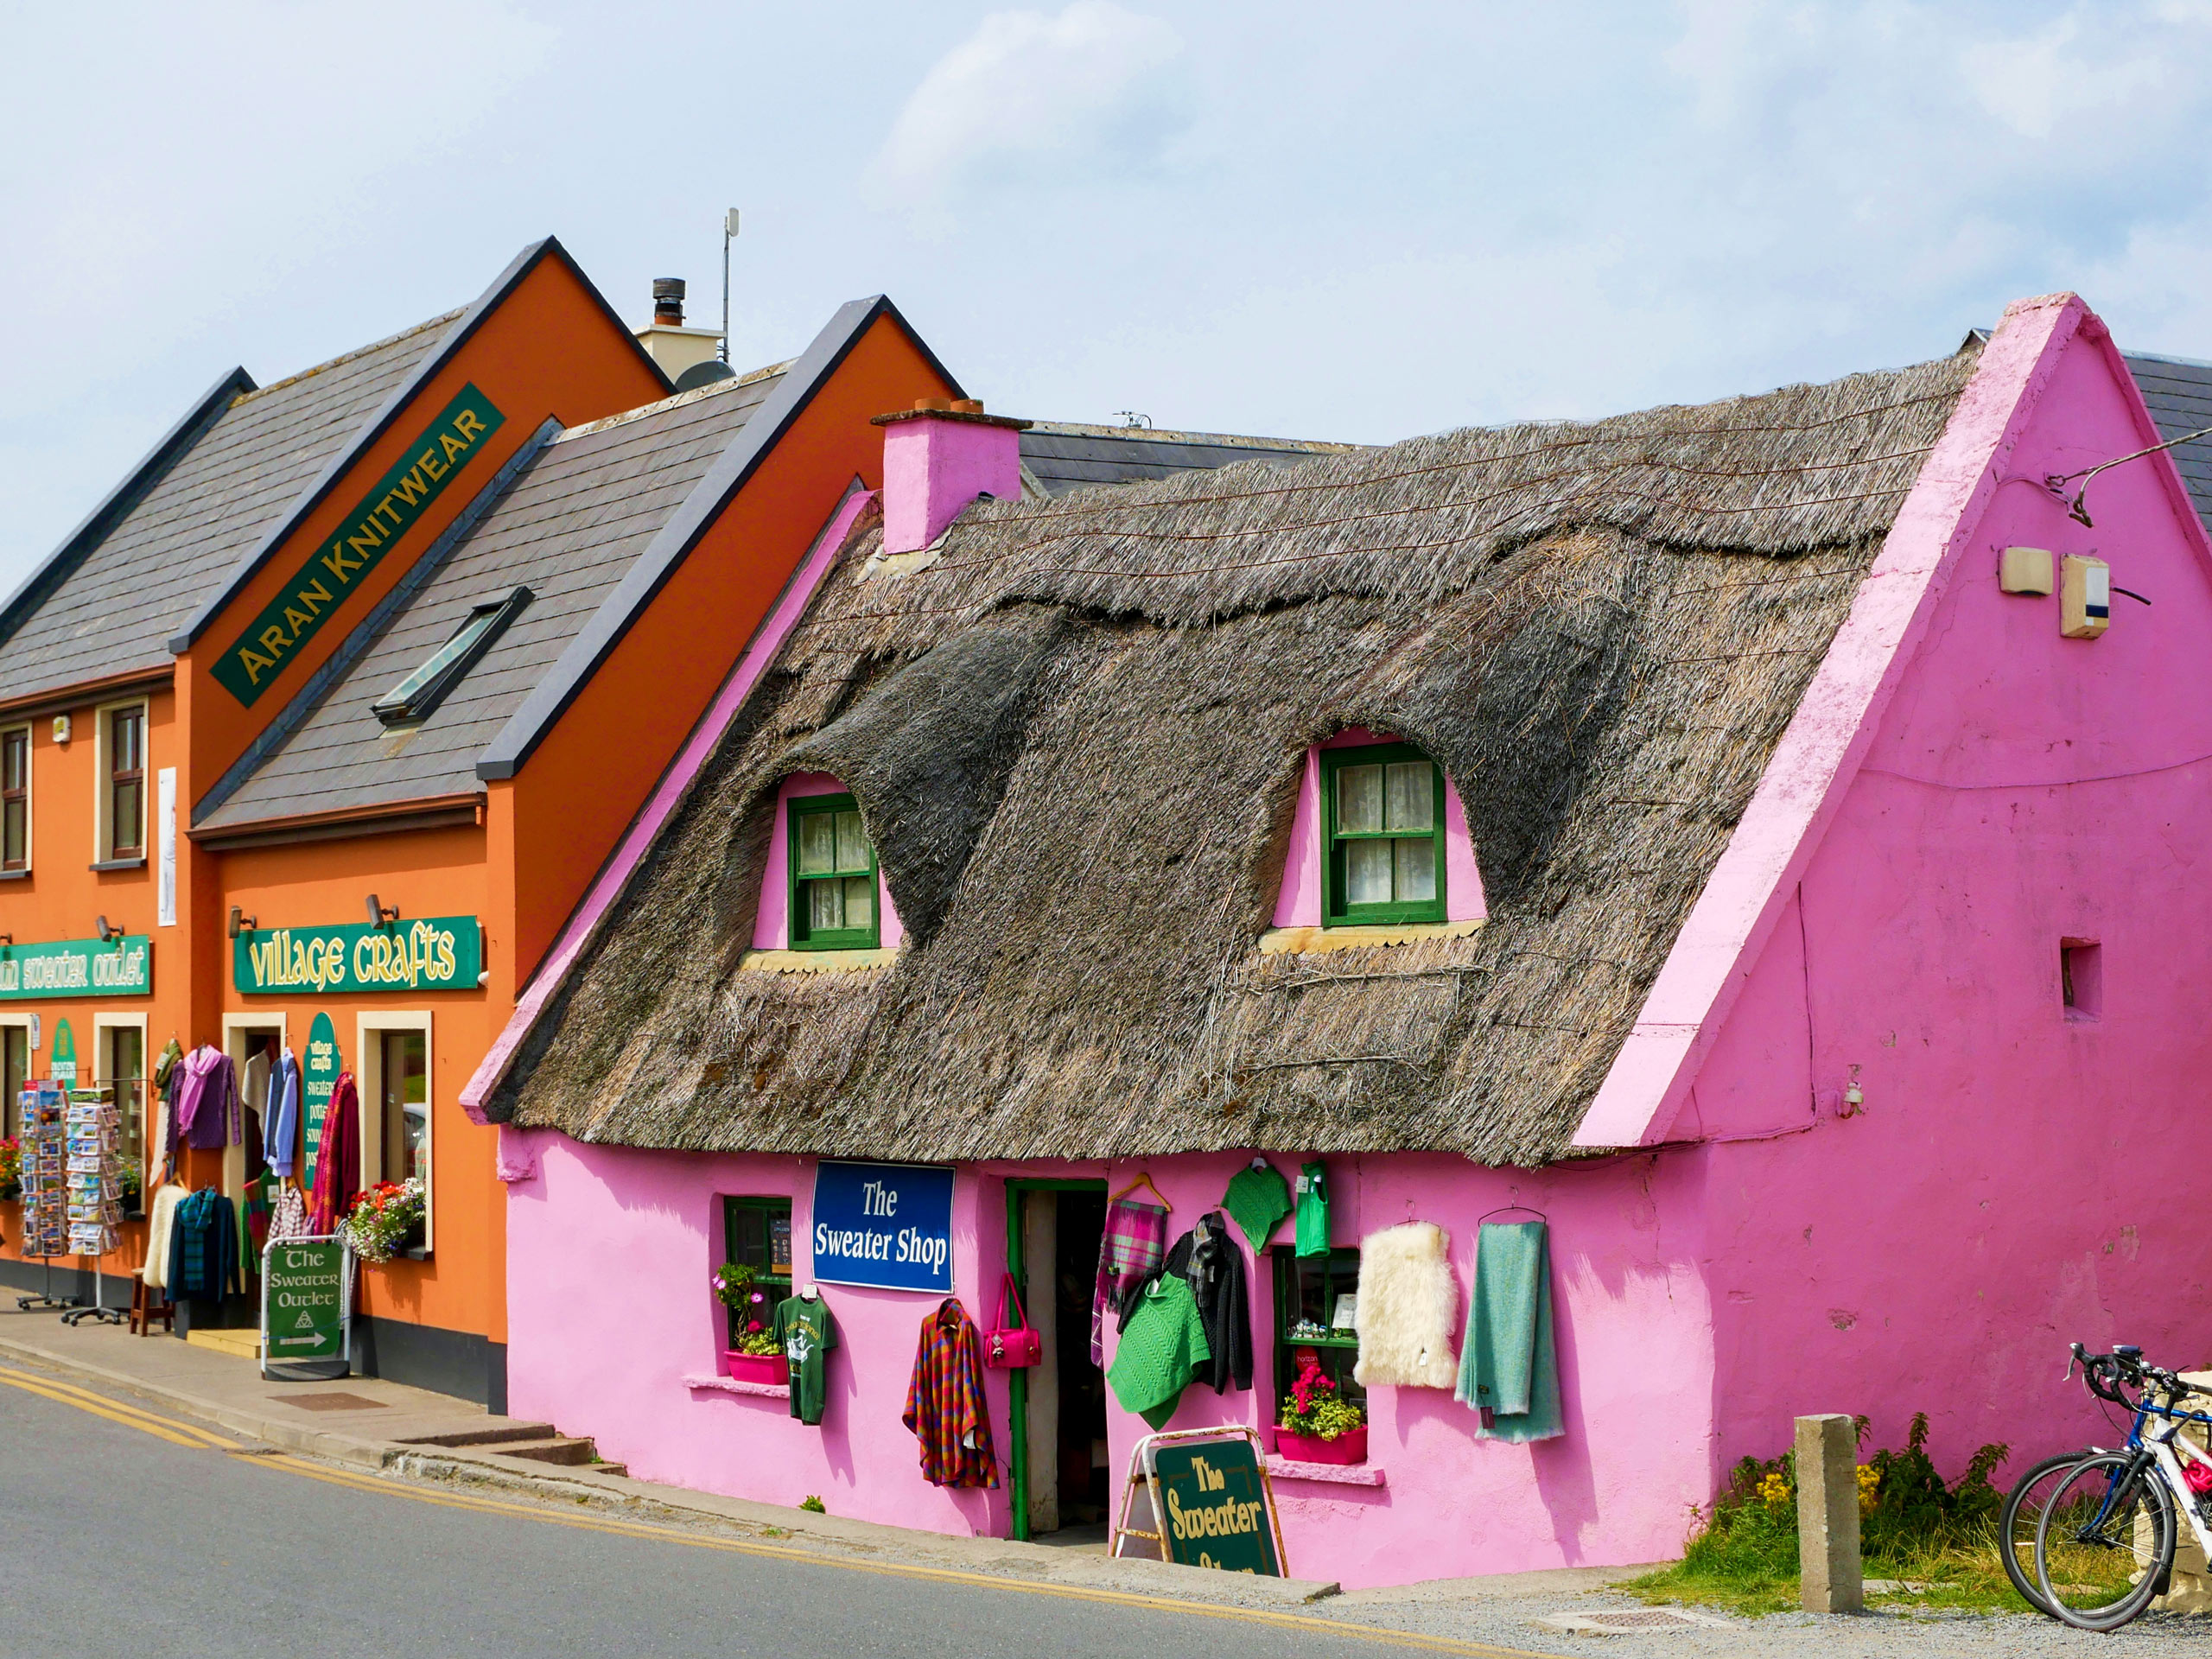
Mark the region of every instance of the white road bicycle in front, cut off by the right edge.
[[[2212, 1559], [2212, 1453], [2181, 1440], [2185, 1425], [2212, 1429], [2212, 1416], [2181, 1409], [2188, 1396], [2212, 1389], [2143, 1363], [2132, 1343], [2110, 1354], [2075, 1343], [2066, 1376], [2075, 1365], [2088, 1391], [2130, 1411], [2132, 1422], [2126, 1447], [2093, 1451], [2051, 1491], [2035, 1522], [2035, 1586], [2044, 1610], [2077, 1630], [2119, 1630], [2170, 1588], [2179, 1517]], [[2197, 1480], [2205, 1491], [2183, 1458], [2203, 1469]]]

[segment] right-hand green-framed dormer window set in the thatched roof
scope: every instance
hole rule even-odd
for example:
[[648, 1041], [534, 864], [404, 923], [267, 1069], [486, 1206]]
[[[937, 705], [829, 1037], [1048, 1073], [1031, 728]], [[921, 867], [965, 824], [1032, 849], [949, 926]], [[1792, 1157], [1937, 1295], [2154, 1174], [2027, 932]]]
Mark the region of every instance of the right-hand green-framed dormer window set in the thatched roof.
[[[1427, 787], [1416, 768], [1427, 768]], [[1442, 922], [1444, 768], [1411, 743], [1323, 750], [1321, 794], [1329, 832], [1321, 925]]]

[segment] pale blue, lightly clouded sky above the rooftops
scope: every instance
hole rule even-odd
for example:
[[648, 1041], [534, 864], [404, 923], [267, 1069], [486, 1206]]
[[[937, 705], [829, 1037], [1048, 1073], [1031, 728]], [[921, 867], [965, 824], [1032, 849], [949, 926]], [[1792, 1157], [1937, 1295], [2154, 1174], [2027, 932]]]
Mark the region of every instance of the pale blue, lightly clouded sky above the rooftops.
[[9, 7], [0, 588], [232, 365], [557, 234], [732, 358], [889, 294], [1048, 420], [1385, 442], [2081, 292], [2212, 358], [2212, 0]]

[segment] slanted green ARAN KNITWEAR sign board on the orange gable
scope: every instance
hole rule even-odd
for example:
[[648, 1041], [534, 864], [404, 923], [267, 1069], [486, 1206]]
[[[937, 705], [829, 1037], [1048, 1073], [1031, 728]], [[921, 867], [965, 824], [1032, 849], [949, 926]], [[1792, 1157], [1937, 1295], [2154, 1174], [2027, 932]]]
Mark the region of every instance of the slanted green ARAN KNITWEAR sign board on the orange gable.
[[392, 544], [414, 529], [504, 422], [507, 416], [491, 398], [473, 385], [462, 387], [422, 438], [407, 445], [392, 471], [341, 520], [330, 546], [312, 555], [217, 659], [217, 684], [252, 708], [301, 646], [321, 633], [330, 613], [345, 604], [345, 595], [367, 580]]

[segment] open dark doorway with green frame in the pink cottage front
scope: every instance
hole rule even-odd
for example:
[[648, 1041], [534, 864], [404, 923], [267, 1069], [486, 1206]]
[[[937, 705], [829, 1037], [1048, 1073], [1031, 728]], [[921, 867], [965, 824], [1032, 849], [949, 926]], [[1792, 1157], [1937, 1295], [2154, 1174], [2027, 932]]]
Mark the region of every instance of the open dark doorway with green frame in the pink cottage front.
[[1013, 1374], [1015, 1537], [1106, 1540], [1106, 1374], [1091, 1363], [1104, 1232], [1104, 1181], [1006, 1183], [1006, 1272], [1044, 1347], [1037, 1365]]

